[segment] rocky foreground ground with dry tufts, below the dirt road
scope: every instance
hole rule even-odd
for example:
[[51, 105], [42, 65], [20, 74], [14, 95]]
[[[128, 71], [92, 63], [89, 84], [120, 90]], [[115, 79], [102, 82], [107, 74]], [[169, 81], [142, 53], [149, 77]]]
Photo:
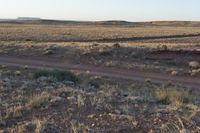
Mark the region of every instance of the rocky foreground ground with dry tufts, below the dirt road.
[[0, 132], [200, 132], [198, 89], [0, 69]]

